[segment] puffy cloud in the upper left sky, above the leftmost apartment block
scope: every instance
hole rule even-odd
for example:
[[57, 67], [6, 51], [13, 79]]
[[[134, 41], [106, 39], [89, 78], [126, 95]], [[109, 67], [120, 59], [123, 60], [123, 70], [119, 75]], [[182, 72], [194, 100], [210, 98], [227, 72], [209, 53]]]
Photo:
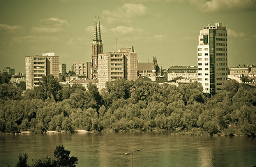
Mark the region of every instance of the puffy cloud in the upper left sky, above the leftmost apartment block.
[[33, 26], [31, 32], [33, 33], [58, 33], [64, 31], [64, 27], [68, 22], [64, 19], [51, 17], [48, 19], [41, 19], [38, 26]]

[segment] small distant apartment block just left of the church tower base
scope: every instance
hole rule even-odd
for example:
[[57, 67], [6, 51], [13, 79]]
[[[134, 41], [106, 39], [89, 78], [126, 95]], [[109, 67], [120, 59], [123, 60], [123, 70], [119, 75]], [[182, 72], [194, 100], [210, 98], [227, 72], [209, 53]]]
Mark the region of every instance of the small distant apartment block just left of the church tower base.
[[73, 72], [77, 76], [86, 76], [87, 79], [90, 78], [90, 68], [91, 68], [91, 62], [80, 62], [80, 63], [73, 63]]

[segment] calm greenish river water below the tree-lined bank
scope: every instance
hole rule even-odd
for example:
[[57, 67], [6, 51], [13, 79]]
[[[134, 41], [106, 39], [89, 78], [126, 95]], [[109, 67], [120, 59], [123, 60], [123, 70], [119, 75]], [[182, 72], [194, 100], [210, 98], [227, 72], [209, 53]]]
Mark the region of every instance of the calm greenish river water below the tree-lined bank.
[[[0, 166], [18, 154], [53, 158], [64, 145], [82, 166], [256, 166], [256, 138], [180, 136], [170, 132], [0, 135]], [[125, 155], [126, 152], [134, 154]]]

